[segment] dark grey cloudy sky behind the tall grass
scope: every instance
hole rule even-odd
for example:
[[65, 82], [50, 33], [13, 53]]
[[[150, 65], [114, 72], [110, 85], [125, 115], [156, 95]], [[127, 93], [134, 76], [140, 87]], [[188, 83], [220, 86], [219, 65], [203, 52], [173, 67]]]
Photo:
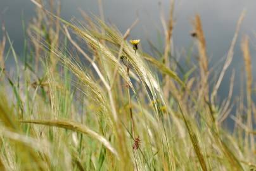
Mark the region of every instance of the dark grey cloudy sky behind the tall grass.
[[[117, 26], [121, 32], [131, 25], [139, 17], [139, 23], [131, 32], [131, 38], [141, 39], [142, 47], [148, 50], [146, 38], [158, 42], [158, 31], [162, 32], [160, 22], [160, 8], [157, 0], [102, 0], [106, 20]], [[66, 20], [72, 17], [82, 19], [79, 8], [87, 13], [98, 15], [97, 0], [61, 0], [61, 16]], [[165, 17], [169, 13], [169, 0], [162, 0], [162, 7]], [[232, 68], [236, 68], [236, 75], [239, 75], [243, 66], [241, 56], [240, 40], [241, 36], [250, 36], [250, 50], [252, 53], [252, 63], [255, 63], [256, 47], [256, 1], [253, 0], [177, 0], [175, 5], [174, 26], [174, 48], [181, 51], [182, 48], [188, 49], [192, 39], [189, 32], [192, 30], [191, 20], [198, 13], [202, 17], [203, 31], [207, 41], [207, 53], [210, 62], [216, 63], [217, 60], [227, 54], [233, 39], [236, 22], [243, 11], [246, 9], [246, 16], [241, 26], [238, 44], [234, 51], [234, 60], [231, 68], [227, 71], [224, 82], [221, 85], [222, 96], [228, 92], [229, 78]], [[1, 20], [6, 23], [6, 30], [14, 42], [17, 53], [21, 53], [23, 46], [22, 34], [22, 14], [26, 22], [34, 15], [34, 4], [30, 0], [0, 0]], [[1, 24], [1, 23], [0, 23]], [[0, 32], [1, 37], [1, 32]], [[178, 53], [177, 53], [178, 54]], [[253, 73], [255, 73], [253, 67]], [[256, 80], [256, 73], [254, 78]], [[239, 91], [239, 77], [236, 77], [234, 91]]]

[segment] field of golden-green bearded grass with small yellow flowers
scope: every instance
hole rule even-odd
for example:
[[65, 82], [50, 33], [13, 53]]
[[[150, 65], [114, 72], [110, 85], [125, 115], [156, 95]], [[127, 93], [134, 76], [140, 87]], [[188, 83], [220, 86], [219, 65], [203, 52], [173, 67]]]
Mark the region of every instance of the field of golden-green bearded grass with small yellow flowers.
[[[129, 41], [138, 20], [122, 34], [103, 13], [68, 22], [58, 5], [48, 11], [32, 2], [37, 14], [23, 25], [22, 61], [8, 30], [0, 37], [0, 170], [256, 170], [249, 38], [236, 41], [245, 13], [219, 71], [208, 66], [196, 15], [188, 51], [196, 59], [177, 74], [172, 3], [162, 18], [164, 46], [151, 44], [150, 55]], [[245, 91], [231, 100], [233, 74], [220, 100], [235, 44]], [[10, 58], [14, 68], [6, 68]], [[227, 118], [233, 130], [223, 126]]]

